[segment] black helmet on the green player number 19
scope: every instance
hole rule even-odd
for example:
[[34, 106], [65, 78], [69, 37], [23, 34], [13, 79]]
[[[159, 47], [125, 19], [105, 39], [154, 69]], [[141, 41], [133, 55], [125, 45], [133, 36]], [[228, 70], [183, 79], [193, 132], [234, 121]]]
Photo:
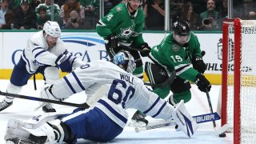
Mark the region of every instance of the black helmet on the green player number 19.
[[174, 34], [180, 36], [190, 35], [190, 25], [186, 21], [176, 21], [173, 23]]

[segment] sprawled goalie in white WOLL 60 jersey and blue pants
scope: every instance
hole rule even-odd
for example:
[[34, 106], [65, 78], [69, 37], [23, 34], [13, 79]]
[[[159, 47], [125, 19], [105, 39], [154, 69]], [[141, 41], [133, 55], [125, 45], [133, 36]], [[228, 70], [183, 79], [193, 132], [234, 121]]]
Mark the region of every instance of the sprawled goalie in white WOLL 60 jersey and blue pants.
[[26, 121], [9, 121], [6, 141], [75, 143], [78, 138], [85, 138], [94, 142], [108, 142], [121, 134], [126, 126], [127, 108], [141, 110], [153, 118], [174, 119], [184, 133], [191, 137], [198, 125], [183, 103], [180, 102], [174, 108], [159, 98], [131, 74], [134, 68], [134, 58], [128, 51], [118, 52], [113, 63], [99, 60], [77, 68], [53, 85], [46, 86], [42, 90], [42, 97], [60, 100], [82, 90], [90, 93], [106, 86], [106, 91], [94, 107], [90, 110], [78, 108], [73, 114], [49, 122], [44, 121], [44, 116], [34, 117], [30, 119], [30, 123], [35, 122], [34, 126]]

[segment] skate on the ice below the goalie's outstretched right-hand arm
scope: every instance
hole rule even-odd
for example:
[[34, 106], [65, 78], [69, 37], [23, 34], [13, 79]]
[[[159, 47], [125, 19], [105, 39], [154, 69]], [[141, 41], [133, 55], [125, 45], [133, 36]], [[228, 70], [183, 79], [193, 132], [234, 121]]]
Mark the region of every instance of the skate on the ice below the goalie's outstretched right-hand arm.
[[141, 111], [137, 110], [134, 114], [134, 116], [131, 118], [131, 121], [129, 126], [146, 126], [149, 122], [146, 120], [146, 114], [143, 114]]

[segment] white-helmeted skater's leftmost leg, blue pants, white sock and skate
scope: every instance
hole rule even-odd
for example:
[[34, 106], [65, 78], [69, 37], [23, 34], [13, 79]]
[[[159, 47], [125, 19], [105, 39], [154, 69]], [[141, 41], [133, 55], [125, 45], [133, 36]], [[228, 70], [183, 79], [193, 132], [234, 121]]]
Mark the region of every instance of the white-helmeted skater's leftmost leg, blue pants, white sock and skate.
[[[7, 86], [6, 92], [11, 94], [18, 94], [22, 90], [22, 86], [25, 86], [32, 74], [26, 71], [26, 62], [23, 58], [20, 58], [17, 65], [14, 66], [14, 70], [10, 76], [10, 83]], [[7, 107], [13, 104], [14, 98], [5, 97], [0, 102], [0, 111], [5, 110]]]

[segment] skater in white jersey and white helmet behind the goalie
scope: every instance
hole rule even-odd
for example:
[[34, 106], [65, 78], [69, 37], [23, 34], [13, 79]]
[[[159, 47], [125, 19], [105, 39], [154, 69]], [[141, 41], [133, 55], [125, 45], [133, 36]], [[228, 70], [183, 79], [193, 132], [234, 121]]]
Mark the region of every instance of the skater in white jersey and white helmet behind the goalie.
[[[71, 72], [72, 68], [85, 64], [66, 50], [60, 37], [61, 29], [58, 23], [48, 21], [43, 30], [28, 39], [18, 64], [14, 66], [7, 93], [18, 94], [33, 74], [42, 74], [46, 84], [52, 84], [59, 79], [58, 67], [64, 72]], [[0, 102], [0, 111], [11, 106], [13, 101], [14, 98], [4, 98]], [[55, 111], [51, 104], [46, 104], [42, 110]]]

